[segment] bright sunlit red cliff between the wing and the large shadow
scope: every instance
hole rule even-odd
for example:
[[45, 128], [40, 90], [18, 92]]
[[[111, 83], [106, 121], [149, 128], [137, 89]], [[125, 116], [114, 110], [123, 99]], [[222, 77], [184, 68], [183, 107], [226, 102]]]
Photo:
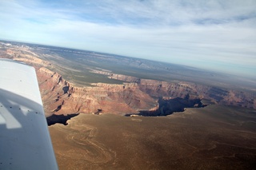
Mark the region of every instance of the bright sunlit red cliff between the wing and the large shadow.
[[67, 113], [138, 113], [141, 109], [151, 109], [156, 100], [143, 93], [137, 84], [110, 85], [93, 84], [93, 87], [75, 87], [58, 73], [49, 69], [37, 70], [42, 101], [46, 114]]

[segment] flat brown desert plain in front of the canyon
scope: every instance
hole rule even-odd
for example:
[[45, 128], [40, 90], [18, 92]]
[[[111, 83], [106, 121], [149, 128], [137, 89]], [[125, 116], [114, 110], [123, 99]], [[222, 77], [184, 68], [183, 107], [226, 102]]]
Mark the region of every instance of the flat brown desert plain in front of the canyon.
[[167, 117], [80, 114], [49, 127], [60, 169], [254, 169], [256, 112], [223, 105]]

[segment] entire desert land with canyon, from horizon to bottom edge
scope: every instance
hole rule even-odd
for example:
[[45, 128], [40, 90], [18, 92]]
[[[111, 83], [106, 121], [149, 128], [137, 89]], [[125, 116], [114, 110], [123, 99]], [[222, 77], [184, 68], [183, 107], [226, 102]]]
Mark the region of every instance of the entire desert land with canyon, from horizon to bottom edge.
[[255, 80], [78, 49], [0, 47], [37, 72], [60, 169], [255, 167]]

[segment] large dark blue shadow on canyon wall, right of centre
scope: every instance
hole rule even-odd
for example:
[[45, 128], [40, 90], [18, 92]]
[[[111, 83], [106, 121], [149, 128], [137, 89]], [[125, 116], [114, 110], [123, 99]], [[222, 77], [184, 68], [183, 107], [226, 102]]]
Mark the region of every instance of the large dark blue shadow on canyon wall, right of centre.
[[126, 114], [126, 117], [131, 115], [138, 115], [143, 117], [159, 117], [167, 116], [174, 112], [184, 112], [185, 108], [203, 108], [207, 105], [203, 105], [201, 99], [190, 99], [189, 94], [186, 97], [176, 97], [173, 99], [158, 99], [158, 109], [156, 110], [142, 110], [138, 114]]

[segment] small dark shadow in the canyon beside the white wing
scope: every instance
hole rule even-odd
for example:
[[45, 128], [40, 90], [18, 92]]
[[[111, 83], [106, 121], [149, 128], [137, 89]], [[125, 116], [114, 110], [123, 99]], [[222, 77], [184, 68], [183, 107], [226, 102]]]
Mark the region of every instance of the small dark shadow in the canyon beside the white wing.
[[79, 113], [74, 113], [74, 114], [68, 114], [68, 115], [56, 115], [53, 114], [50, 117], [46, 117], [46, 121], [48, 126], [54, 125], [54, 124], [62, 124], [62, 125], [67, 125], [66, 121], [70, 120], [72, 117], [78, 116]]

